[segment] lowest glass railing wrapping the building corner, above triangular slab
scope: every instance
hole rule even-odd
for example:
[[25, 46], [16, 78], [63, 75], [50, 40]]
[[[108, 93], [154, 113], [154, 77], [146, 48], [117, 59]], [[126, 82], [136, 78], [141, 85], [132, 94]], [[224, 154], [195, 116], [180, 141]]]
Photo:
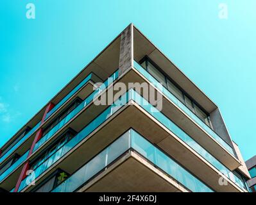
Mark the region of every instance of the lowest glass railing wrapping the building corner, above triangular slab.
[[107, 148], [99, 152], [98, 155], [83, 165], [52, 192], [74, 192], [128, 150], [138, 152], [146, 160], [166, 172], [166, 174], [192, 192], [213, 192], [208, 186], [133, 129], [130, 129], [108, 145]]

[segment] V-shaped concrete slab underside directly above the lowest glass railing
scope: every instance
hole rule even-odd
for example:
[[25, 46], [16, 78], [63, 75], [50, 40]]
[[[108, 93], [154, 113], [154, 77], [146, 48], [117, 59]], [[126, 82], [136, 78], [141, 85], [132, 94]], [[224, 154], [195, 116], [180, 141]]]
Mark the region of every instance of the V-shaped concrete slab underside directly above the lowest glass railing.
[[[82, 118], [80, 119], [78, 116], [77, 119], [78, 120], [69, 124], [74, 130], [80, 127], [78, 123]], [[40, 183], [57, 168], [72, 174], [78, 167], [84, 165], [131, 127], [147, 138], [151, 143], [167, 152], [169, 156], [175, 158], [176, 161], [179, 161], [183, 167], [190, 170], [214, 190], [218, 192], [244, 192], [244, 190], [241, 190], [236, 184], [230, 181], [230, 179], [223, 176], [223, 174], [210, 165], [210, 163], [201, 158], [199, 154], [194, 152], [188, 145], [182, 142], [182, 140], [173, 135], [173, 133], [162, 126], [157, 120], [153, 119], [153, 117], [146, 113], [146, 111], [135, 102], [123, 106], [123, 108], [101, 124], [101, 126], [94, 130], [89, 136], [78, 143], [78, 145], [56, 162], [55, 165], [51, 166], [44, 174], [38, 177], [37, 183]], [[226, 186], [221, 186], [218, 183], [220, 176], [226, 179]], [[22, 192], [28, 192], [31, 188], [33, 188], [33, 186], [28, 186], [22, 190]]]

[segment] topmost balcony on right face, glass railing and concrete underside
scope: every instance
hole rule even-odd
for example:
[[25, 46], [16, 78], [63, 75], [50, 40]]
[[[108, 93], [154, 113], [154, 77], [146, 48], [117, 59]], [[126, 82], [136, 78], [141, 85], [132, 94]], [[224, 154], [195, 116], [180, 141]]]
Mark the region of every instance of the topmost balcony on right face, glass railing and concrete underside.
[[[234, 156], [232, 147], [228, 145], [220, 136], [218, 136], [209, 126], [199, 119], [187, 106], [185, 106], [175, 95], [171, 94], [157, 79], [153, 78], [149, 72], [134, 61], [133, 69], [135, 74], [130, 74], [126, 80], [137, 81], [142, 83], [148, 82], [154, 88], [157, 88], [163, 96], [162, 112], [172, 119], [184, 131], [189, 133], [200, 145], [207, 151], [218, 158], [221, 163], [225, 164], [231, 170], [239, 167], [241, 164]], [[139, 74], [139, 76], [137, 76]]]

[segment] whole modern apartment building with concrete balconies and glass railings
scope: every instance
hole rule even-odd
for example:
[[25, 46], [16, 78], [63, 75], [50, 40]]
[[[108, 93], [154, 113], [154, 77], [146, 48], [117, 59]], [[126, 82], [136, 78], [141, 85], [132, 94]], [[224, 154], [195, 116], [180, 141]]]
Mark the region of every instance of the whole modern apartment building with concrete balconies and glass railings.
[[250, 179], [218, 106], [133, 24], [1, 147], [0, 174], [3, 192], [248, 192]]

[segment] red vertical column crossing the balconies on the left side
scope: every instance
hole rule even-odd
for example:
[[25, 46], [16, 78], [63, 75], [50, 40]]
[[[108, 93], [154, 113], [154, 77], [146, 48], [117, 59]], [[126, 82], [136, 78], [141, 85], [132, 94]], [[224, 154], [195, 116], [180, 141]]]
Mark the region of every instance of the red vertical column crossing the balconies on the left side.
[[[46, 107], [46, 110], [44, 111], [44, 115], [42, 117], [42, 120], [41, 120], [41, 123], [40, 124], [43, 124], [44, 123], [44, 120], [46, 119], [46, 115], [47, 113], [53, 109], [53, 107], [55, 106], [55, 104], [53, 104], [52, 102], [50, 102], [47, 107]], [[38, 131], [37, 131], [37, 134], [35, 135], [35, 138], [33, 140], [33, 143], [30, 147], [30, 152], [28, 153], [28, 156], [27, 158], [33, 153], [33, 149], [35, 148], [35, 144], [38, 142], [38, 140], [40, 140], [40, 138], [42, 137], [42, 134], [43, 134], [43, 130], [42, 128], [40, 128]], [[21, 174], [19, 176], [19, 179], [16, 183], [16, 186], [15, 186], [15, 190], [13, 192], [18, 192], [19, 190], [19, 187], [21, 186], [21, 182], [23, 179], [25, 179], [25, 177], [27, 176], [27, 171], [30, 169], [30, 161], [26, 161], [24, 167], [22, 168], [21, 170]]]

